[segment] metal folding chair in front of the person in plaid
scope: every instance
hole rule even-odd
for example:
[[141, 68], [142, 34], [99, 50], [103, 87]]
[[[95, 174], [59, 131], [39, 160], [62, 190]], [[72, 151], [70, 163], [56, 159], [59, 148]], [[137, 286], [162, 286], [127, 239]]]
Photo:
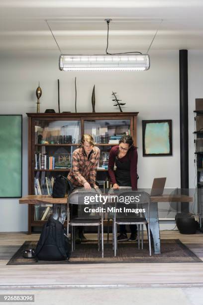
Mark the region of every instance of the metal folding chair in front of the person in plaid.
[[[102, 207], [102, 202], [91, 202], [90, 204], [85, 204], [85, 196], [94, 196], [95, 194], [101, 194], [99, 188], [91, 188], [86, 190], [84, 187], [77, 187], [74, 191], [68, 196], [68, 206], [67, 206], [67, 234], [69, 234], [69, 225], [71, 226], [71, 244], [72, 251], [75, 250], [75, 229], [78, 226], [97, 226], [98, 227], [98, 251], [100, 251], [100, 245], [102, 243], [102, 258], [103, 258], [103, 213], [101, 211], [101, 216], [82, 216], [75, 217], [70, 220], [70, 208], [69, 204], [78, 204], [85, 205], [85, 207]], [[101, 232], [102, 231], [102, 232]], [[102, 237], [101, 237], [102, 233]]]

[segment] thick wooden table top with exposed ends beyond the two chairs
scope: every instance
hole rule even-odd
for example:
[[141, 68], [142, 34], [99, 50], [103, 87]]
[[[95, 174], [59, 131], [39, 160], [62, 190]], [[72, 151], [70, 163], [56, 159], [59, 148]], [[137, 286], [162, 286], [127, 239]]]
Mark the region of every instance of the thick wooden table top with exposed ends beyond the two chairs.
[[[67, 203], [68, 196], [64, 198], [53, 198], [51, 195], [28, 195], [19, 199], [19, 203], [27, 204], [64, 204]], [[151, 196], [152, 202], [193, 202], [193, 197], [187, 195], [161, 195]]]

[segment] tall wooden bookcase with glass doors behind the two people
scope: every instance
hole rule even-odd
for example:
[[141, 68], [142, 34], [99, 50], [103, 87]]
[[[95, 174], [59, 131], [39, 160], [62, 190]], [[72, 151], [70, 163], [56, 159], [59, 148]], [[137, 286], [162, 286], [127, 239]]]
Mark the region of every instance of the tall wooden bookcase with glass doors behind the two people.
[[[136, 146], [137, 115], [138, 112], [27, 113], [29, 195], [36, 194], [39, 188], [42, 194], [46, 193], [46, 191], [48, 192], [48, 182], [50, 182], [52, 176], [59, 173], [65, 176], [68, 175], [72, 152], [79, 147], [83, 134], [92, 134], [96, 140], [96, 146], [101, 150], [97, 178], [100, 180], [98, 176], [102, 175], [103, 179], [103, 176], [107, 175], [108, 152], [112, 146], [117, 145], [112, 143], [113, 140], [115, 141], [124, 133], [129, 133], [133, 137], [134, 145]], [[44, 158], [46, 159], [46, 164]], [[50, 160], [53, 162], [53, 159], [55, 167], [53, 168], [52, 164], [51, 168], [49, 162], [51, 162]], [[41, 160], [40, 163], [39, 160]], [[61, 161], [62, 163], [65, 162], [65, 164], [62, 164]], [[60, 167], [63, 165], [65, 168]], [[41, 209], [43, 210], [43, 208]], [[36, 207], [29, 205], [29, 234], [32, 233], [34, 227], [44, 224], [45, 221], [40, 220], [40, 217], [40, 215], [38, 217], [38, 214], [36, 214]]]

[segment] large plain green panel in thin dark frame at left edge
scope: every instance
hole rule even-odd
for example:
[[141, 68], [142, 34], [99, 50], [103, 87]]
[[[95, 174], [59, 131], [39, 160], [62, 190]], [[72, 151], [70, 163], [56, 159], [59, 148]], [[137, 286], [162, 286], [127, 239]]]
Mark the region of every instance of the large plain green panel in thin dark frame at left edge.
[[0, 198], [22, 197], [22, 115], [0, 115]]

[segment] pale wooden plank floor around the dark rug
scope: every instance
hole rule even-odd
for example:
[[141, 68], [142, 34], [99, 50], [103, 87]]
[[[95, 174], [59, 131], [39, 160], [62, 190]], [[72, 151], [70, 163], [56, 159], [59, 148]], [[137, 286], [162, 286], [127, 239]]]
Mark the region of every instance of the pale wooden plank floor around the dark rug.
[[[25, 240], [38, 238], [37, 234], [0, 233], [0, 246], [20, 246]], [[179, 231], [162, 231], [161, 238], [180, 239], [203, 260], [203, 234], [182, 235]], [[6, 266], [7, 261], [1, 256], [0, 289], [203, 286], [202, 263]]]

